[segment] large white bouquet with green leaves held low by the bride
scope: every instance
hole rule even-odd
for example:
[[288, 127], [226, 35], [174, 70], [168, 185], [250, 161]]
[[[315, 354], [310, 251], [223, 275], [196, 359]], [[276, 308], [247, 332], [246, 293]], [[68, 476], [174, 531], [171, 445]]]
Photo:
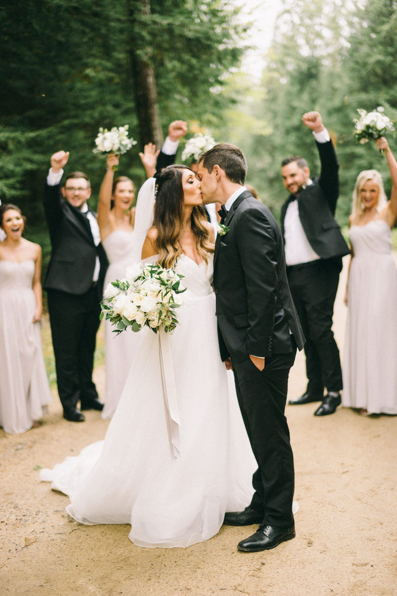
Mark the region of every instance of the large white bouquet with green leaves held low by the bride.
[[180, 296], [186, 291], [183, 277], [174, 269], [134, 263], [127, 268], [126, 278], [107, 285], [101, 319], [105, 316], [115, 325], [117, 334], [128, 327], [140, 331], [145, 325], [155, 333], [161, 327], [165, 333], [173, 333], [179, 324], [175, 309], [184, 303]]

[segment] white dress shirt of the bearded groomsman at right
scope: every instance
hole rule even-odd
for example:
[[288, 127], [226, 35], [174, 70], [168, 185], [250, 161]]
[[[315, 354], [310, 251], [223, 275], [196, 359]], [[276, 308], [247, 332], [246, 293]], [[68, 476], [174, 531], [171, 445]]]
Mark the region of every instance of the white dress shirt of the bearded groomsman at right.
[[[324, 128], [321, 132], [313, 132], [314, 138], [318, 143], [326, 143], [330, 140], [329, 132]], [[307, 186], [313, 184], [309, 179]], [[307, 235], [299, 218], [298, 201], [291, 201], [287, 207], [284, 219], [284, 238], [285, 238], [285, 262], [286, 265], [300, 265], [320, 259], [318, 254], [312, 249]]]

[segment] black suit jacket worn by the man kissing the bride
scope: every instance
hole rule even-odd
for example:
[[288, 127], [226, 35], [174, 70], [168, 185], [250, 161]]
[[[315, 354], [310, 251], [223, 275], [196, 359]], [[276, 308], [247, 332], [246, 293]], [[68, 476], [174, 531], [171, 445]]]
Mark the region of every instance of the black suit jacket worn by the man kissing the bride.
[[221, 358], [269, 358], [305, 339], [289, 291], [282, 234], [271, 212], [244, 191], [233, 203], [214, 254]]

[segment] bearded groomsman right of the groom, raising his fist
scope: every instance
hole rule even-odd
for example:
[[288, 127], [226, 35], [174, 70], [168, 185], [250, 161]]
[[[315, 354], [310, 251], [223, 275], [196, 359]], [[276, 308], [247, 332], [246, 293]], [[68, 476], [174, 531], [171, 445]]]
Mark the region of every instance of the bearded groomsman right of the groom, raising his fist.
[[289, 403], [321, 401], [314, 415], [326, 416], [341, 403], [342, 370], [331, 327], [342, 256], [350, 251], [334, 219], [339, 196], [335, 148], [318, 112], [308, 112], [302, 120], [313, 131], [321, 173], [311, 180], [308, 164], [300, 156], [282, 162], [283, 183], [290, 195], [282, 207], [281, 228], [288, 283], [306, 337], [308, 378], [304, 395]]

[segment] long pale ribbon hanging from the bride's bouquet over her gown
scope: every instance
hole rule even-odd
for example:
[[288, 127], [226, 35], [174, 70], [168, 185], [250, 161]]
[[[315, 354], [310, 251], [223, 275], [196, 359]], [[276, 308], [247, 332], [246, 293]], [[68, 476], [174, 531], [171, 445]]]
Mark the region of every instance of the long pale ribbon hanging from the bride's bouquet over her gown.
[[171, 355], [170, 337], [164, 329], [158, 331], [158, 350], [160, 352], [160, 368], [162, 395], [164, 396], [165, 417], [167, 418], [168, 437], [170, 439], [171, 457], [180, 456], [179, 409], [176, 398], [174, 367]]

